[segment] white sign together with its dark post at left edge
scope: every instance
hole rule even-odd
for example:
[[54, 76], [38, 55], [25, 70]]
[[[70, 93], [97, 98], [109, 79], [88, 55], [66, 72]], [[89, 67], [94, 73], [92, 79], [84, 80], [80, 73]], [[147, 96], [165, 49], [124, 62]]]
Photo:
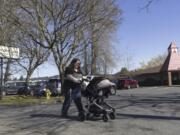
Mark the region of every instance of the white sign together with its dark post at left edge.
[[18, 59], [19, 58], [19, 48], [0, 46], [0, 100], [3, 98], [3, 58], [8, 59]]

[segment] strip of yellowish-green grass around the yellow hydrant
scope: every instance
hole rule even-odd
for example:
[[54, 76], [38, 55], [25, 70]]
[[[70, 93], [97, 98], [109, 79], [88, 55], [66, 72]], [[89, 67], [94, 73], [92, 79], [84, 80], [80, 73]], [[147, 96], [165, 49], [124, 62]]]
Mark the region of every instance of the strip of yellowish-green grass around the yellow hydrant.
[[51, 104], [56, 102], [62, 102], [62, 97], [31, 97], [31, 96], [4, 96], [0, 100], [0, 105], [34, 105], [34, 104]]

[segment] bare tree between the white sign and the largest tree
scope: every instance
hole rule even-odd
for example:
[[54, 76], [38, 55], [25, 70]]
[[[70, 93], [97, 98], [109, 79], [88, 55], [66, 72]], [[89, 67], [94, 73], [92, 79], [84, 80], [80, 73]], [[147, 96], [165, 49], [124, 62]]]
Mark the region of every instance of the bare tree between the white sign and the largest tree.
[[[48, 49], [44, 49], [44, 47], [39, 46], [38, 43], [35, 42], [31, 35], [29, 35], [27, 32], [28, 30], [32, 31], [32, 34], [36, 34], [37, 32], [36, 28], [33, 27], [34, 23], [28, 22], [32, 20], [28, 18], [29, 16], [26, 16], [27, 14], [24, 14], [23, 7], [21, 7], [22, 5], [25, 6], [28, 4], [30, 3], [23, 0], [7, 0], [4, 1], [4, 7], [2, 11], [2, 14], [6, 20], [5, 24], [9, 24], [7, 30], [11, 28], [11, 31], [8, 31], [6, 34], [6, 37], [8, 37], [8, 42], [6, 43], [8, 46], [15, 46], [20, 48], [21, 56], [20, 59], [17, 60], [17, 63], [26, 71], [27, 84], [29, 83], [29, 79], [34, 70], [39, 65], [43, 64], [50, 54]], [[19, 25], [22, 25], [22, 27]], [[41, 38], [38, 39], [41, 40]], [[9, 65], [11, 64], [11, 61], [12, 60], [8, 60], [7, 62], [7, 75], [9, 74], [8, 71], [10, 70]], [[17, 64], [13, 65], [17, 66]], [[7, 77], [4, 78], [6, 79]]]

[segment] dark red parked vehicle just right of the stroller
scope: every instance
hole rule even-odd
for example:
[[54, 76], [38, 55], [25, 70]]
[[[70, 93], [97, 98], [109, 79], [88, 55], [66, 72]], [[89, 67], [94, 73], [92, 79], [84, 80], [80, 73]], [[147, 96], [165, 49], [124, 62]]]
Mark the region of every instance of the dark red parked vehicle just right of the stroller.
[[120, 89], [130, 89], [130, 88], [138, 88], [139, 84], [137, 80], [132, 78], [120, 79], [117, 82], [117, 88]]

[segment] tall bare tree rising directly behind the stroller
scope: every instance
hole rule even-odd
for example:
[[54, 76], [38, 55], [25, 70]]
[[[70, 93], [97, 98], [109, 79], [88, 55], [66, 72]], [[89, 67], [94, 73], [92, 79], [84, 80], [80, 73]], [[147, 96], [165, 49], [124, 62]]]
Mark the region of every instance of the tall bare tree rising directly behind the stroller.
[[[121, 11], [115, 4], [114, 0], [93, 1], [91, 2], [91, 5], [93, 7], [93, 10], [91, 10], [87, 16], [87, 19], [90, 23], [87, 27], [88, 29], [86, 33], [86, 40], [89, 41], [90, 47], [86, 47], [86, 49], [88, 48], [91, 54], [89, 56], [91, 58], [91, 73], [96, 74], [97, 68], [100, 68], [100, 65], [98, 66], [100, 59], [97, 60], [99, 57], [98, 52], [101, 50], [100, 48], [111, 48], [111, 44], [109, 44], [110, 42], [108, 41], [110, 39], [109, 33], [117, 26], [117, 22], [120, 21]], [[104, 45], [104, 43], [101, 44], [102, 42], [100, 43], [100, 41], [105, 40], [104, 37], [106, 37], [106, 41], [108, 43], [106, 43], [106, 45]], [[98, 47], [100, 45], [101, 47]], [[88, 54], [89, 53], [86, 52], [86, 55]], [[103, 54], [104, 58], [102, 58]], [[84, 58], [89, 57], [85, 56]], [[101, 63], [104, 63], [104, 67], [107, 67], [105, 66], [105, 61], [107, 61], [107, 58], [108, 57], [105, 56], [105, 53], [101, 53]], [[87, 64], [87, 59], [85, 59], [84, 61]]]

